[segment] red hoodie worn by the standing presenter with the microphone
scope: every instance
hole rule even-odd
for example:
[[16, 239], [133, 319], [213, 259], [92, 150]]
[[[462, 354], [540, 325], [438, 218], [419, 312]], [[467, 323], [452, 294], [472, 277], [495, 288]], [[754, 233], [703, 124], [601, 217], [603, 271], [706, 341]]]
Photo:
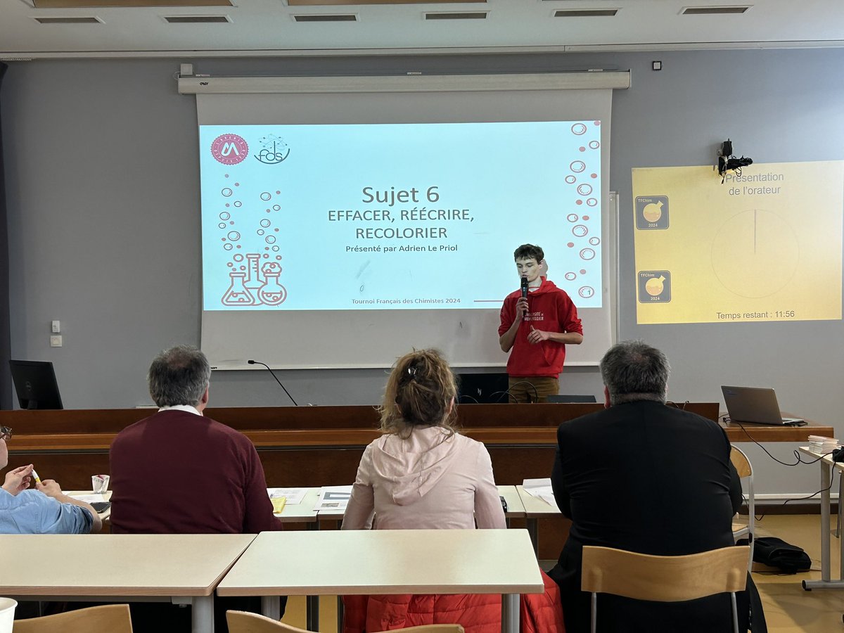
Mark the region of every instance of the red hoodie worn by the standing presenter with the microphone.
[[[506, 296], [501, 306], [501, 325], [498, 335], [510, 329], [516, 318], [516, 303], [522, 296], [521, 290], [515, 290]], [[538, 289], [527, 295], [529, 311], [516, 333], [516, 340], [507, 360], [507, 373], [510, 376], [551, 376], [556, 378], [563, 371], [565, 345], [555, 341], [542, 341], [532, 345], [527, 342], [530, 328], [544, 332], [583, 333], [581, 321], [577, 318], [577, 308], [571, 302], [565, 290], [557, 288], [553, 281], [542, 278]]]

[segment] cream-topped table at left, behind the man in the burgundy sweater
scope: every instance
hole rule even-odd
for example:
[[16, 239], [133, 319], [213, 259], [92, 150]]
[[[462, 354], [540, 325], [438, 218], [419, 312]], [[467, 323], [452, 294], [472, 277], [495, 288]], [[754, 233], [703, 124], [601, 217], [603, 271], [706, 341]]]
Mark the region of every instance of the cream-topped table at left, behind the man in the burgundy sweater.
[[189, 603], [192, 633], [214, 633], [214, 588], [254, 538], [254, 534], [0, 535], [0, 595]]

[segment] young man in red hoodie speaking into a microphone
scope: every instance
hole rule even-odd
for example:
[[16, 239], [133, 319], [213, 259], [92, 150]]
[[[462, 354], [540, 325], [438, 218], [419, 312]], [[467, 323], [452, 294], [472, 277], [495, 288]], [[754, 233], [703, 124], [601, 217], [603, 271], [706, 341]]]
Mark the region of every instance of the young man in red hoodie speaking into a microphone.
[[522, 289], [506, 296], [498, 328], [501, 350], [511, 352], [510, 402], [544, 403], [560, 391], [565, 345], [581, 344], [583, 327], [565, 290], [541, 276], [543, 250], [522, 244], [513, 257]]

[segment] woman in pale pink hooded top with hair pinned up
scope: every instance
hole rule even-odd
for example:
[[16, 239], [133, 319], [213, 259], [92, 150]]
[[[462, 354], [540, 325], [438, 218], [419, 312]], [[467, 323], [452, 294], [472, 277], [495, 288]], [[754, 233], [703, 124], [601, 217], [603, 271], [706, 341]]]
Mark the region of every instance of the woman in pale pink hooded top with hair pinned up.
[[405, 354], [381, 403], [383, 435], [360, 460], [344, 530], [506, 527], [490, 453], [460, 435], [457, 385], [436, 349]]

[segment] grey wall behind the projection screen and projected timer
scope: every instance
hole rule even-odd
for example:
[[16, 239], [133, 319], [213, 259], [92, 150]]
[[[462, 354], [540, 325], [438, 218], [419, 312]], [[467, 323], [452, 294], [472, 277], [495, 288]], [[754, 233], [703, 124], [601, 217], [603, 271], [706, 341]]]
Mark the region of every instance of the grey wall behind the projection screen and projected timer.
[[[654, 59], [663, 61], [661, 72], [652, 72]], [[844, 159], [838, 49], [13, 62], [0, 94], [12, 352], [53, 361], [68, 408], [149, 403], [151, 357], [199, 341], [196, 112], [172, 78], [184, 61], [214, 75], [629, 68], [632, 87], [614, 95], [610, 173], [620, 197], [621, 338], [666, 351], [674, 400], [720, 400], [727, 383], [771, 386], [783, 408], [836, 422], [841, 322], [636, 325], [630, 169], [710, 164], [728, 137], [757, 162]], [[49, 347], [52, 319], [62, 321], [62, 348]], [[384, 372], [283, 378], [300, 403], [362, 404], [376, 403]], [[593, 369], [566, 371], [563, 385], [563, 392], [601, 392]], [[286, 403], [263, 372], [215, 374], [212, 398], [218, 406]], [[792, 459], [793, 446], [769, 448]], [[785, 468], [750, 453], [762, 492], [817, 487], [814, 467]]]

